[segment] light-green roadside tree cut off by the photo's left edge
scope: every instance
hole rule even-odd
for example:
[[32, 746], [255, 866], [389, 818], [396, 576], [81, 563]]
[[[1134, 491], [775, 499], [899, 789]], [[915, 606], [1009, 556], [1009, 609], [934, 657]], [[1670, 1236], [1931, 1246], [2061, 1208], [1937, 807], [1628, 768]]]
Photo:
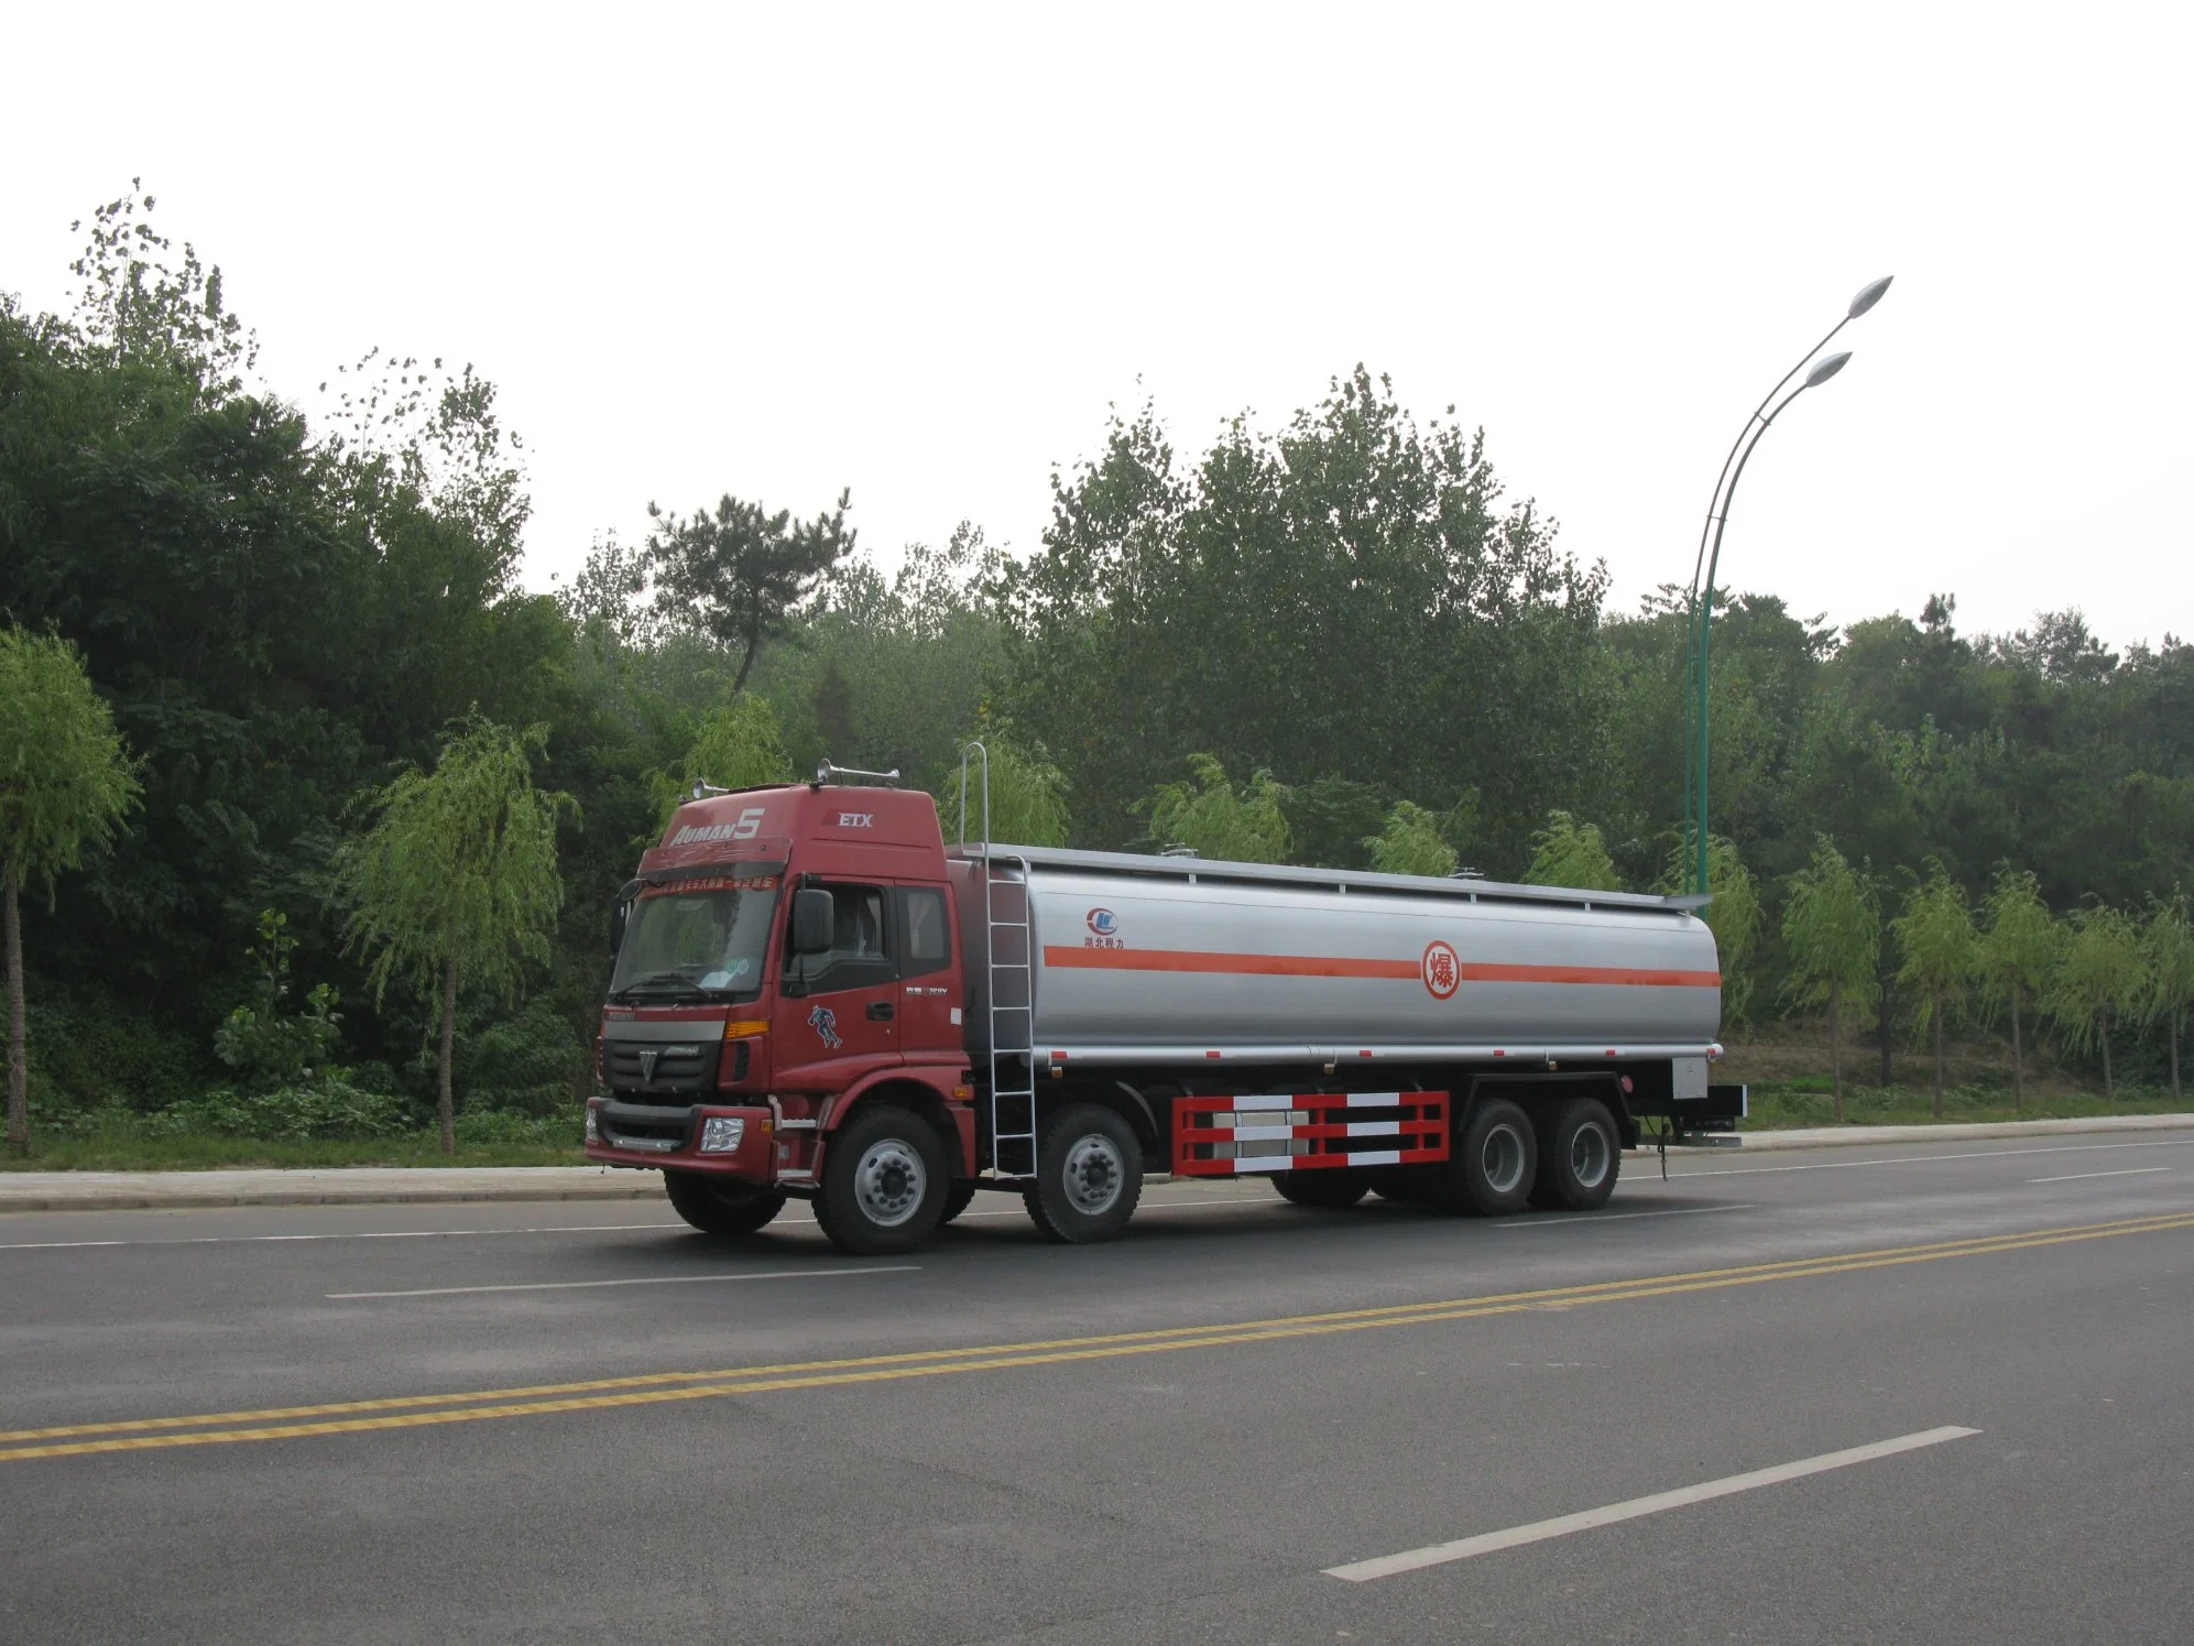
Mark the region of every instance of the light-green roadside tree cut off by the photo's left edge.
[[55, 876], [86, 847], [114, 838], [138, 781], [68, 641], [0, 628], [0, 898], [7, 902], [7, 1141], [31, 1148], [31, 1069], [24, 1051], [22, 889], [53, 898]]

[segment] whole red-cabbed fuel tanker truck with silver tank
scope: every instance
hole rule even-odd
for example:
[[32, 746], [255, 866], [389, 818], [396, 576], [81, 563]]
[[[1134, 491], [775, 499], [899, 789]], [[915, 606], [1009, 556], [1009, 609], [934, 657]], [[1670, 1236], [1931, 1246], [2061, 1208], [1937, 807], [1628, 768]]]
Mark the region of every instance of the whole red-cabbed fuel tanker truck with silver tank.
[[1165, 1174], [1584, 1211], [1641, 1128], [1742, 1115], [1698, 898], [970, 841], [965, 799], [948, 849], [893, 777], [704, 790], [619, 898], [586, 1154], [698, 1229], [801, 1198], [902, 1253], [1000, 1190], [1093, 1242]]

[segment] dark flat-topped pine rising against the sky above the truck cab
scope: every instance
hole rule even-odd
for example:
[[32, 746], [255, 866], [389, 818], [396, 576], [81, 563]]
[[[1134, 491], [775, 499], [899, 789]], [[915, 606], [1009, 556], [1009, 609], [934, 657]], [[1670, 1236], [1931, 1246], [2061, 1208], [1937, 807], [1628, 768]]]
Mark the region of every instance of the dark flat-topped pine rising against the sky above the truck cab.
[[733, 696], [746, 689], [761, 643], [785, 634], [794, 610], [853, 551], [845, 525], [851, 503], [853, 494], [840, 492], [832, 514], [801, 525], [792, 525], [790, 509], [768, 514], [728, 492], [715, 514], [678, 516], [647, 505], [656, 522], [647, 533], [656, 610], [739, 652]]

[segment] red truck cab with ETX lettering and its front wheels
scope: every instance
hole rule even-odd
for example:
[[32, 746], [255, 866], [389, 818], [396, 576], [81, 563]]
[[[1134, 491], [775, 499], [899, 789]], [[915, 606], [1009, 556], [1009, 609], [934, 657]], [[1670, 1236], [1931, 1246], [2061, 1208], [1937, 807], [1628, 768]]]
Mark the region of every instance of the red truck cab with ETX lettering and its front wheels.
[[[680, 805], [614, 946], [588, 1159], [660, 1170], [713, 1233], [799, 1196], [840, 1247], [904, 1251], [965, 1205], [961, 944], [928, 794], [816, 781]], [[856, 1159], [823, 1194], [836, 1148]]]

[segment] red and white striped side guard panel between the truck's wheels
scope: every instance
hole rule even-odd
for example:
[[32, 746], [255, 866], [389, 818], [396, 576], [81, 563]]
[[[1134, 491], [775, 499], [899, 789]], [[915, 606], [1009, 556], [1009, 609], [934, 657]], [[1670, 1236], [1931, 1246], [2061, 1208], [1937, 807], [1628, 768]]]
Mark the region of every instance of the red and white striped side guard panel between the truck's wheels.
[[[1369, 1141], [1369, 1146], [1367, 1146]], [[1174, 1174], [1246, 1176], [1448, 1159], [1448, 1093], [1176, 1097]]]

